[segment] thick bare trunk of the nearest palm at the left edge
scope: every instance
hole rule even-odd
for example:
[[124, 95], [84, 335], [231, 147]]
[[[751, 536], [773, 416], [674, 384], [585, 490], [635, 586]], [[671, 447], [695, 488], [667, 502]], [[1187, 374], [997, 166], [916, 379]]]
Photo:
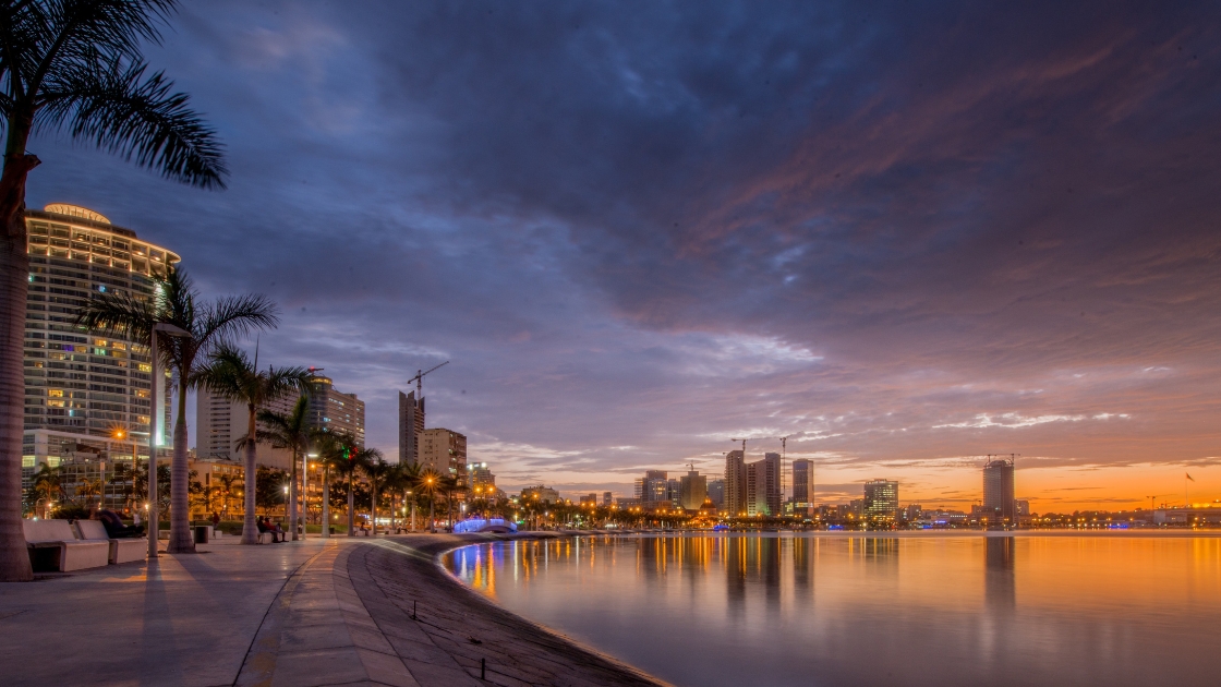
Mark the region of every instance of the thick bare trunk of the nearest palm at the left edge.
[[38, 158], [26, 154], [33, 126], [11, 116], [0, 176], [0, 582], [34, 578], [21, 527], [21, 436], [26, 405], [23, 346], [29, 254], [26, 252], [26, 176]]

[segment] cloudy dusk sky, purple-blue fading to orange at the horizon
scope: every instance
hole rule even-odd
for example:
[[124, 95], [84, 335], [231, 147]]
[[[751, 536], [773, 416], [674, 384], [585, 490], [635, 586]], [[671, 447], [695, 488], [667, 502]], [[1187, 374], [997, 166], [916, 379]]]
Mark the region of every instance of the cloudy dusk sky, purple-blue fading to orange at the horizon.
[[260, 359], [325, 368], [389, 456], [398, 390], [451, 361], [429, 427], [507, 490], [630, 495], [788, 436], [821, 502], [967, 509], [989, 454], [1038, 512], [1221, 499], [1219, 20], [190, 4], [145, 55], [228, 188], [48, 134], [29, 205], [274, 298]]

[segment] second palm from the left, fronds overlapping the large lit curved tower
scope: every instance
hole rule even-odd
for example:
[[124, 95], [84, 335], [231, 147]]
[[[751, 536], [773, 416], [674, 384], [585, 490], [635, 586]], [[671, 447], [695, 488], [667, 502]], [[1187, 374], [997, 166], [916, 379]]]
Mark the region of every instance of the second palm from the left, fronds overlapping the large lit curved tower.
[[178, 390], [170, 482], [170, 544], [166, 550], [171, 554], [189, 554], [194, 553], [195, 543], [190, 537], [187, 506], [187, 390], [199, 380], [200, 368], [197, 367], [197, 361], [223, 348], [231, 339], [244, 336], [255, 329], [274, 328], [278, 319], [276, 307], [264, 296], [225, 296], [211, 303], [200, 302], [199, 291], [190, 277], [173, 266], [164, 276], [156, 276], [155, 281], [153, 298], [118, 291], [94, 293], [76, 321], [90, 331], [134, 341], [151, 341], [153, 328], [159, 323], [175, 325], [190, 334], [189, 337], [158, 339], [166, 367], [176, 373]]

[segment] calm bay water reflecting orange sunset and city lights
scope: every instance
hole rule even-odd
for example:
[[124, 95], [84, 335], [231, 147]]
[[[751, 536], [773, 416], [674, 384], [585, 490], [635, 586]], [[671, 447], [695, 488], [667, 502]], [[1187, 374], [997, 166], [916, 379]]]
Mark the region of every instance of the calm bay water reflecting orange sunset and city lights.
[[1219, 538], [596, 537], [444, 564], [675, 685], [1221, 685]]

